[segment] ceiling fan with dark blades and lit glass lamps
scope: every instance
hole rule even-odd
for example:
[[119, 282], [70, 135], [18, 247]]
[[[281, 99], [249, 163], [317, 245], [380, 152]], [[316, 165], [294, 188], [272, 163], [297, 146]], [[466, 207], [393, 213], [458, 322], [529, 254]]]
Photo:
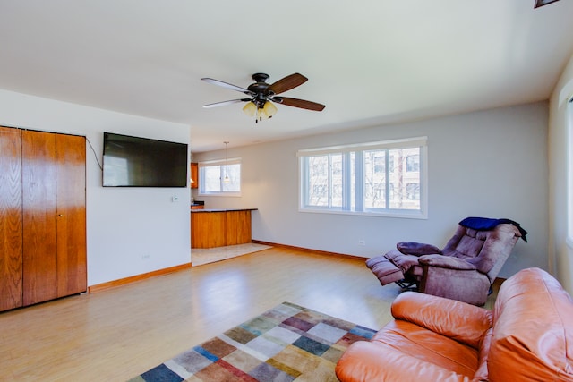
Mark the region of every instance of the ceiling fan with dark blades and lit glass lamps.
[[308, 81], [304, 75], [294, 73], [272, 84], [267, 82], [269, 78], [269, 74], [254, 73], [252, 74], [252, 80], [255, 82], [249, 85], [247, 89], [232, 85], [227, 82], [214, 80], [212, 78], [201, 78], [202, 81], [212, 83], [213, 85], [222, 86], [223, 88], [240, 91], [241, 93], [249, 96], [249, 98], [231, 99], [229, 101], [203, 105], [203, 107], [209, 108], [235, 104], [237, 102], [246, 102], [247, 104], [243, 107], [243, 111], [246, 115], [254, 116], [255, 123], [262, 121], [263, 118], [268, 119], [277, 113], [277, 107], [274, 106], [273, 103], [319, 112], [324, 109], [324, 105], [317, 104], [316, 102], [306, 101], [304, 99], [298, 98], [277, 96], [278, 94], [284, 93], [290, 89], [294, 89]]

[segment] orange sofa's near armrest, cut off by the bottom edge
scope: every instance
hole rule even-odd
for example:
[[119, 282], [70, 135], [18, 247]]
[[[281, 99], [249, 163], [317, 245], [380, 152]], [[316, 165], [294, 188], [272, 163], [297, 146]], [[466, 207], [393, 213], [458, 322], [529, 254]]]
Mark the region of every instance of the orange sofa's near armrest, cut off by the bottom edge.
[[467, 376], [381, 344], [351, 344], [335, 369], [341, 382], [363, 381], [468, 381]]

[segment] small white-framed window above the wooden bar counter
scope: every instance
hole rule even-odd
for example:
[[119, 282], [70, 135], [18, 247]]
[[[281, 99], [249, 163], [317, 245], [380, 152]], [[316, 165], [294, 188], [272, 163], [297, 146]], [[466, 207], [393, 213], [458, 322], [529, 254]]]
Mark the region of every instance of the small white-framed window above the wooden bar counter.
[[241, 194], [241, 159], [216, 160], [199, 163], [200, 195]]

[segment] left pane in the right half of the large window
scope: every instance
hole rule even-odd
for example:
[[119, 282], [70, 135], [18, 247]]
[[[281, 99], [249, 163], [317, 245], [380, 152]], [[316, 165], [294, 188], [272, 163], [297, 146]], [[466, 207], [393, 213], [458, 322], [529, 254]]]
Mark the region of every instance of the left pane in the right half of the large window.
[[364, 208], [386, 208], [386, 150], [364, 151]]

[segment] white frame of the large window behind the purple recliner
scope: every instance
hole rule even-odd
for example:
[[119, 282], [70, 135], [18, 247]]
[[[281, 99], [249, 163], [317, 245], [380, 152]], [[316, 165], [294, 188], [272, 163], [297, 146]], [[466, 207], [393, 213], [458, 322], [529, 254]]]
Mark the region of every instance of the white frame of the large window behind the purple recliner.
[[[428, 146], [427, 137], [414, 137], [401, 140], [382, 140], [375, 142], [358, 143], [352, 145], [331, 146], [326, 148], [315, 149], [300, 149], [297, 151], [299, 163], [299, 212], [310, 213], [325, 213], [325, 214], [343, 214], [343, 215], [362, 215], [362, 216], [388, 216], [388, 217], [406, 217], [415, 219], [428, 218]], [[363, 152], [374, 149], [420, 149], [420, 209], [396, 209], [384, 208], [381, 210], [365, 210], [363, 208], [362, 198], [362, 185], [355, 184], [356, 197], [355, 210], [347, 207], [347, 200], [343, 201], [342, 208], [329, 208], [329, 207], [315, 207], [305, 206], [304, 200], [306, 199], [307, 174], [304, 166], [305, 158], [314, 156], [324, 156], [327, 154], [346, 154], [352, 152]], [[343, 164], [343, 166], [345, 166]], [[358, 177], [363, 178], [361, 174]], [[358, 183], [358, 182], [355, 182]], [[343, 183], [343, 189], [346, 191], [350, 189], [350, 184]], [[387, 188], [387, 191], [389, 189]], [[346, 198], [345, 198], [346, 199]]]

